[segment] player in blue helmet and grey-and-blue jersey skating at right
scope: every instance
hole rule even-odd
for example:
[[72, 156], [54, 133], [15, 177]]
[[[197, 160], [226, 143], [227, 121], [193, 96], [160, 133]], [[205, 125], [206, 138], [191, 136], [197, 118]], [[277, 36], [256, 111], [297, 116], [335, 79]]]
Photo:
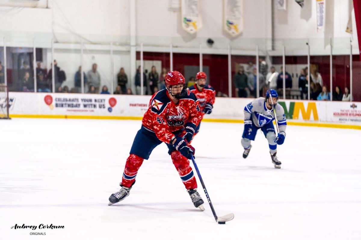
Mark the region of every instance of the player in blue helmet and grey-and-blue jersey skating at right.
[[[270, 99], [270, 92], [278, 121], [279, 133], [273, 125], [274, 112]], [[261, 128], [270, 148], [272, 163], [275, 168], [281, 168], [281, 162], [277, 159], [277, 144], [281, 145], [286, 137], [286, 116], [284, 109], [278, 104], [278, 94], [274, 89], [267, 91], [266, 98], [257, 98], [244, 107], [244, 131], [242, 135], [242, 146], [244, 148], [243, 158], [247, 158], [252, 148], [251, 140], [255, 140], [257, 130]]]

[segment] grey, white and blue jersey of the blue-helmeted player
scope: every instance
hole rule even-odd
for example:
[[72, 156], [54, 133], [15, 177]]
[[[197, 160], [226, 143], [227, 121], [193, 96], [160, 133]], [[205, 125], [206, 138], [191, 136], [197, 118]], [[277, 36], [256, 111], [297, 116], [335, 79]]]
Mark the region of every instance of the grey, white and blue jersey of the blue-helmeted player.
[[[275, 110], [279, 131], [286, 132], [287, 122], [284, 109], [277, 103]], [[257, 128], [261, 128], [274, 120], [273, 109], [269, 110], [266, 107], [265, 98], [257, 98], [244, 107], [244, 121], [247, 120], [251, 120]]]

